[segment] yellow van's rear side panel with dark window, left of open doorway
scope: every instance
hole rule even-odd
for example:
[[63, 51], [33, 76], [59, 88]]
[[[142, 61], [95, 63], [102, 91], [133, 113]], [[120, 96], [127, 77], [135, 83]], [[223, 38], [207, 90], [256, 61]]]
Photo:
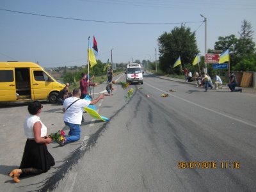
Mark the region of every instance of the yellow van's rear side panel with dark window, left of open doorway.
[[16, 84], [14, 68], [3, 68], [0, 70], [0, 101], [15, 101]]

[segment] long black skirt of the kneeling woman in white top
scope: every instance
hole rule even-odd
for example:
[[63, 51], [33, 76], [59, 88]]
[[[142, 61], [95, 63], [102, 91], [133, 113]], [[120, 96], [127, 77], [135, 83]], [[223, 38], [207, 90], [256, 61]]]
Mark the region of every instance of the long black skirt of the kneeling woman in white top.
[[51, 166], [54, 166], [55, 161], [52, 155], [48, 152], [45, 143], [36, 143], [35, 140], [27, 140], [20, 163], [22, 168], [36, 168], [47, 172]]

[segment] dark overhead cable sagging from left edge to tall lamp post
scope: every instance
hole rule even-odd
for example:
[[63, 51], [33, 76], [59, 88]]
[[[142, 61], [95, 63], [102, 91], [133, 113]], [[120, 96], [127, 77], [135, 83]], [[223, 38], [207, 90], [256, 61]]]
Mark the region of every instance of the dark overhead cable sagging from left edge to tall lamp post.
[[27, 14], [27, 15], [36, 15], [40, 17], [51, 17], [51, 18], [56, 18], [56, 19], [68, 19], [68, 20], [80, 20], [80, 21], [88, 21], [88, 22], [104, 22], [104, 23], [113, 23], [113, 24], [145, 24], [145, 25], [166, 25], [166, 24], [187, 24], [187, 23], [195, 23], [195, 22], [202, 22], [202, 21], [193, 21], [193, 22], [155, 22], [155, 23], [149, 23], [149, 22], [114, 22], [114, 21], [104, 21], [104, 20], [88, 20], [88, 19], [74, 19], [74, 18], [68, 18], [68, 17], [56, 17], [56, 16], [50, 16], [50, 15], [40, 15], [40, 14], [35, 14], [35, 13], [26, 13], [26, 12], [17, 12], [13, 10], [4, 10], [0, 9], [2, 11], [6, 12], [14, 12], [14, 13], [22, 13], [22, 14]]

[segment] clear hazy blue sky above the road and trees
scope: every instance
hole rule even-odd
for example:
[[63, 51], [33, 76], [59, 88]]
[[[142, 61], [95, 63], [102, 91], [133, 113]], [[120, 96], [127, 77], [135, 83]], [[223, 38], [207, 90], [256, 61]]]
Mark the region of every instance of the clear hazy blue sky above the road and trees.
[[0, 9], [0, 61], [38, 61], [45, 68], [84, 65], [93, 35], [102, 63], [111, 61], [111, 49], [113, 63], [153, 61], [157, 38], [181, 23], [196, 31], [204, 54], [200, 14], [207, 17], [208, 49], [214, 49], [218, 36], [239, 37], [244, 19], [252, 24], [256, 42], [255, 0], [1, 0]]

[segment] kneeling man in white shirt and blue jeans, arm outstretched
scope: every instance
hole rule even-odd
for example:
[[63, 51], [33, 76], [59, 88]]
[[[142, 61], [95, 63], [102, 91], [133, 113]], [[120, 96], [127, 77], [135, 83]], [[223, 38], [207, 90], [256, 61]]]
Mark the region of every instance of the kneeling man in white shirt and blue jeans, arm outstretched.
[[74, 88], [72, 97], [69, 97], [64, 100], [62, 111], [64, 112], [64, 123], [68, 125], [69, 132], [68, 137], [65, 137], [63, 142], [58, 142], [61, 146], [66, 145], [67, 143], [80, 140], [81, 136], [81, 120], [84, 112], [84, 108], [89, 105], [96, 104], [100, 99], [104, 99], [104, 95], [99, 95], [97, 99], [94, 100], [85, 100], [80, 99], [81, 90], [79, 88]]

